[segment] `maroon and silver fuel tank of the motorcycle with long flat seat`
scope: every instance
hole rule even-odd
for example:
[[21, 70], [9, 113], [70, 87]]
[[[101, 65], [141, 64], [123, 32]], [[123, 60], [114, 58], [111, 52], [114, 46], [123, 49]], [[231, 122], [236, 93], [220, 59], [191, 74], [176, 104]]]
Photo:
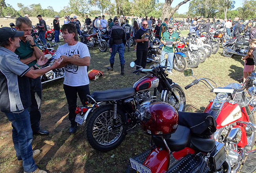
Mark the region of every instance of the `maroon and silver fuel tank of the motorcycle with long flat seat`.
[[150, 90], [158, 87], [159, 79], [154, 75], [146, 75], [141, 77], [137, 82], [134, 83], [135, 92]]

